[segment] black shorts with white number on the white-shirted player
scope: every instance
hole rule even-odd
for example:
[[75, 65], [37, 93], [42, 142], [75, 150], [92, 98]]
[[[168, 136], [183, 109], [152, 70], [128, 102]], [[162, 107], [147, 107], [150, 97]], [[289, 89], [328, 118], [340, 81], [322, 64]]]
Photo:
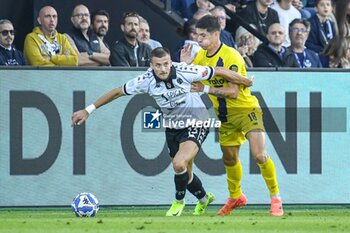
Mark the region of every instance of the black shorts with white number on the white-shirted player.
[[169, 148], [170, 157], [174, 158], [177, 151], [179, 150], [179, 145], [182, 142], [191, 140], [201, 148], [202, 143], [206, 139], [209, 133], [209, 128], [193, 128], [188, 127], [185, 129], [169, 129], [165, 130], [166, 142]]

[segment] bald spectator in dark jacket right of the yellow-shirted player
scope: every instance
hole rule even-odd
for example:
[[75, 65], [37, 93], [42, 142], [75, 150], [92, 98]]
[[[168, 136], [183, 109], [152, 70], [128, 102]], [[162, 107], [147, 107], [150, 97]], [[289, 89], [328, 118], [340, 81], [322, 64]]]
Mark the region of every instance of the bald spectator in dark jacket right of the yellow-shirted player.
[[284, 27], [279, 23], [272, 24], [267, 30], [268, 44], [260, 44], [253, 56], [254, 67], [282, 67], [286, 48], [282, 46], [285, 40]]

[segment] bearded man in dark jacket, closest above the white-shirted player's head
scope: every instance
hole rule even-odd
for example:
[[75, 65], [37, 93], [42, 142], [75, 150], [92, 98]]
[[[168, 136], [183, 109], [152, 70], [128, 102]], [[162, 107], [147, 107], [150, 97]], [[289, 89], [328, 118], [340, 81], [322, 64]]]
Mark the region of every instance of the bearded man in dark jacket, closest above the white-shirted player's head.
[[124, 37], [111, 49], [109, 61], [112, 66], [145, 67], [150, 64], [151, 47], [137, 40], [140, 19], [135, 12], [124, 13], [121, 30]]

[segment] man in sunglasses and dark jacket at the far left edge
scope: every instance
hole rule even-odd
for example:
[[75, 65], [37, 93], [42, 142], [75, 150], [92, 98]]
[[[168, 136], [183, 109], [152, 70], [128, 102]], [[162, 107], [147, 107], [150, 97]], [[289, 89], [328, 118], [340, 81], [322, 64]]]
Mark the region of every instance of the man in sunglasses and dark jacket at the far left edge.
[[26, 65], [23, 53], [13, 46], [15, 30], [8, 19], [0, 20], [0, 65], [23, 66]]

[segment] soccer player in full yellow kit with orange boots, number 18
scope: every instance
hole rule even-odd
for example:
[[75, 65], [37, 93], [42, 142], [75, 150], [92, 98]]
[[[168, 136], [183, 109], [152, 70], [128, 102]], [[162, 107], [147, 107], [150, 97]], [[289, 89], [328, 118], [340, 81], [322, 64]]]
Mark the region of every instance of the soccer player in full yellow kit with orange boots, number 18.
[[[204, 16], [196, 25], [198, 43], [202, 49], [193, 60], [194, 64], [222, 66], [247, 76], [244, 60], [239, 52], [220, 41], [220, 25], [217, 18]], [[183, 61], [192, 62], [191, 47], [182, 51]], [[219, 142], [223, 152], [223, 162], [227, 174], [229, 198], [218, 215], [229, 215], [237, 207], [246, 205], [247, 198], [241, 190], [242, 165], [239, 160], [240, 146], [249, 141], [251, 154], [260, 167], [261, 174], [271, 196], [271, 216], [282, 216], [282, 200], [279, 194], [274, 163], [265, 150], [265, 128], [262, 111], [257, 98], [248, 88], [214, 76], [208, 81], [192, 84], [192, 91], [209, 94], [218, 118], [222, 121]]]

